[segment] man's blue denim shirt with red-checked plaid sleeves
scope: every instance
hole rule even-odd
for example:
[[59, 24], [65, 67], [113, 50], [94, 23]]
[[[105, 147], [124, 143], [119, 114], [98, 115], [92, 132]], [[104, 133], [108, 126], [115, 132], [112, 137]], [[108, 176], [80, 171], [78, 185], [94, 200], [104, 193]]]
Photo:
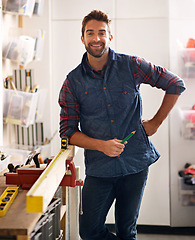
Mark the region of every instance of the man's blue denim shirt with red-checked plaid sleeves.
[[[139, 59], [137, 61], [139, 65]], [[148, 67], [145, 61], [142, 64]], [[164, 78], [168, 79], [169, 76], [171, 79], [168, 82], [161, 79], [159, 76], [162, 73], [157, 71], [147, 83], [162, 88], [167, 93], [180, 94], [185, 89], [182, 80], [167, 70], [166, 74]], [[173, 79], [174, 83], [170, 84]], [[79, 122], [82, 133], [102, 140], [124, 139], [132, 131], [136, 131], [118, 157], [109, 157], [103, 152], [85, 149], [86, 175], [116, 177], [134, 174], [144, 170], [160, 157], [142, 125], [139, 85], [143, 82], [143, 77], [140, 80], [139, 74], [133, 68], [132, 56], [118, 54], [111, 49], [104, 78], [89, 67], [86, 53], [81, 64], [68, 74], [59, 97], [61, 137], [70, 137], [78, 131]], [[180, 89], [179, 93], [173, 89]], [[77, 105], [77, 110], [74, 109], [73, 102]], [[71, 121], [74, 114], [78, 117]], [[68, 123], [65, 115], [69, 116]], [[67, 126], [64, 130], [65, 122]]]

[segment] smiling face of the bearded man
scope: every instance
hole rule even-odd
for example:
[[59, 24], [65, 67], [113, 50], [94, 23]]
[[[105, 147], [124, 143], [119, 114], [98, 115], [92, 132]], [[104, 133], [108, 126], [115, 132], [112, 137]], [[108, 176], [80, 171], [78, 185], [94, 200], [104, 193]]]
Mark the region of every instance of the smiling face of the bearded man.
[[91, 56], [99, 58], [108, 52], [112, 35], [109, 34], [105, 22], [90, 20], [85, 26], [84, 37], [81, 36], [81, 40], [87, 52]]

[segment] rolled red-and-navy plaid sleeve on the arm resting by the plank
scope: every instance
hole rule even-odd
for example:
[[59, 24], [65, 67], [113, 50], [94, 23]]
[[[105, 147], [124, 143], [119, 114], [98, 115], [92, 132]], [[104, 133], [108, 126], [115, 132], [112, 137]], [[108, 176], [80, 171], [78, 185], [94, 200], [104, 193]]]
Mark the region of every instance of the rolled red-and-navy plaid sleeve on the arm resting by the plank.
[[72, 93], [68, 79], [65, 80], [59, 94], [60, 111], [60, 137], [68, 137], [79, 131], [79, 104]]

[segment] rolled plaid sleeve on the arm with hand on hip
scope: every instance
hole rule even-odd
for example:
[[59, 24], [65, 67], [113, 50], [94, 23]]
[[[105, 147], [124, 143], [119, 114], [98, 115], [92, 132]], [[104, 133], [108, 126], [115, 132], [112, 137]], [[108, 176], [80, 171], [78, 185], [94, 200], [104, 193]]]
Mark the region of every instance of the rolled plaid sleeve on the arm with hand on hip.
[[167, 94], [181, 94], [185, 90], [184, 82], [177, 75], [160, 66], [155, 66], [143, 58], [133, 57], [133, 72], [136, 85], [150, 84], [161, 88]]

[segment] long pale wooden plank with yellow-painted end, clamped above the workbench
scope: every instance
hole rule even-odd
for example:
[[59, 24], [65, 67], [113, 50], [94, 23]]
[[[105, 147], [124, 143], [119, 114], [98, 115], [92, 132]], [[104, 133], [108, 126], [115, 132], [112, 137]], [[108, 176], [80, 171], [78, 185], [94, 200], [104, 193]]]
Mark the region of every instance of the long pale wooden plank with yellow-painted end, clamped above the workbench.
[[27, 212], [44, 212], [47, 209], [66, 172], [66, 159], [73, 155], [74, 146], [69, 145], [51, 161], [26, 195]]

